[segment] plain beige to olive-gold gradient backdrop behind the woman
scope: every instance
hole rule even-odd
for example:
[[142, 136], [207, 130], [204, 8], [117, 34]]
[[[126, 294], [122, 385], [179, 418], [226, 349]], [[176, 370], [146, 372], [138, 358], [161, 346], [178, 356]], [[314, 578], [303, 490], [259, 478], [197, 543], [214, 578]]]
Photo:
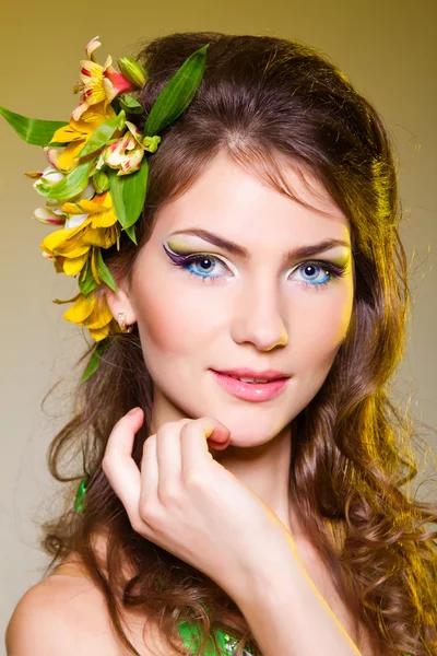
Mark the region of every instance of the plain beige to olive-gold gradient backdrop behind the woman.
[[[437, 46], [435, 0], [222, 0], [200, 2], [11, 2], [0, 25], [0, 104], [20, 114], [68, 120], [79, 60], [94, 36], [101, 62], [134, 54], [142, 37], [212, 30], [272, 34], [304, 40], [339, 65], [379, 109], [400, 157], [405, 211], [402, 234], [412, 265], [413, 313], [406, 356], [398, 376], [414, 414], [437, 426]], [[1, 476], [0, 629], [48, 562], [37, 547], [38, 524], [57, 490], [46, 467], [47, 447], [68, 410], [76, 382], [80, 329], [62, 319], [76, 283], [56, 277], [38, 244], [50, 227], [33, 219], [39, 197], [24, 171], [39, 171], [43, 150], [31, 147], [0, 118], [1, 216]], [[58, 377], [66, 384], [40, 402]], [[428, 432], [429, 450], [436, 436]], [[432, 471], [428, 466], [428, 473]], [[418, 482], [417, 482], [418, 484]], [[433, 488], [433, 501], [437, 501]], [[425, 492], [421, 490], [421, 496]], [[1, 644], [0, 652], [4, 649]]]

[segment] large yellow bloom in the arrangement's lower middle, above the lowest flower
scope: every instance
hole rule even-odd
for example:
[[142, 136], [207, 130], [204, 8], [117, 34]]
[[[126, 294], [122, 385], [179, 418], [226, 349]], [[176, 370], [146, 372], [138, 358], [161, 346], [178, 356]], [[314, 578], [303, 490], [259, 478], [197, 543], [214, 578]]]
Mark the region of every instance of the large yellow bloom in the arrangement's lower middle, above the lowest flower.
[[92, 201], [83, 199], [78, 203], [62, 206], [67, 214], [88, 214], [78, 226], [63, 227], [51, 233], [39, 244], [48, 256], [56, 256], [57, 271], [76, 276], [85, 266], [92, 246], [109, 248], [119, 243], [120, 224], [113, 210], [108, 191], [96, 195]]

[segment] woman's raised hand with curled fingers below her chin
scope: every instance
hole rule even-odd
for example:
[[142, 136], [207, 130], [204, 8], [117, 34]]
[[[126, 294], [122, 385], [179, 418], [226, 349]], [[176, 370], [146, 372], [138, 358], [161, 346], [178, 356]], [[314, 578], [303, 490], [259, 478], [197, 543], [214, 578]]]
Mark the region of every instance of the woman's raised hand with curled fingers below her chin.
[[[214, 460], [229, 431], [216, 419], [164, 424], [143, 447], [141, 470], [131, 457], [144, 419], [138, 408], [109, 436], [103, 470], [132, 528], [214, 579], [229, 595], [274, 559], [277, 539], [291, 539], [273, 511]], [[208, 442], [206, 442], [208, 441]]]

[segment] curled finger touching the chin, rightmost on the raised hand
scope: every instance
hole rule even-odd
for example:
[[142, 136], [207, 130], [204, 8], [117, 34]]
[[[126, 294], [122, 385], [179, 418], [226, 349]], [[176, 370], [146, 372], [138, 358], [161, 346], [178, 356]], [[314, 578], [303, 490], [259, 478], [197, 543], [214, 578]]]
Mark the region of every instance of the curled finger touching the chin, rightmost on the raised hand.
[[217, 437], [218, 445], [223, 445], [231, 435], [229, 430], [212, 417], [194, 419], [182, 426], [180, 431], [182, 478], [193, 476], [196, 471], [211, 462], [212, 455], [208, 446], [212, 434]]

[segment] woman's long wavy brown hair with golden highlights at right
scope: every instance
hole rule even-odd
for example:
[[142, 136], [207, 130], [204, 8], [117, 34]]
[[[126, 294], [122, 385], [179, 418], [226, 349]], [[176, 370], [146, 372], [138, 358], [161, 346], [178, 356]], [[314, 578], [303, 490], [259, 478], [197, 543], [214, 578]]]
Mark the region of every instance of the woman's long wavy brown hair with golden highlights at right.
[[[221, 152], [304, 206], [284, 179], [284, 167], [297, 164], [324, 185], [350, 221], [355, 296], [346, 341], [318, 394], [291, 424], [290, 494], [355, 625], [364, 624], [377, 653], [437, 654], [437, 530], [430, 530], [437, 505], [415, 500], [410, 487], [402, 491], [417, 476], [412, 449], [417, 432], [409, 409], [401, 411], [392, 399], [411, 290], [390, 134], [371, 103], [321, 51], [276, 36], [215, 32], [145, 43], [138, 55], [147, 72], [139, 93], [144, 117], [184, 60], [206, 43], [197, 95], [150, 157], [139, 246], [123, 235], [120, 250], [105, 251], [105, 261], [116, 279], [130, 280], [156, 212]], [[94, 348], [80, 358], [81, 373]], [[215, 642], [217, 628], [233, 633], [240, 639], [238, 655], [244, 646], [259, 651], [239, 608], [215, 582], [135, 534], [102, 470], [114, 424], [134, 406], [145, 412], [132, 453], [140, 466], [152, 405], [135, 326], [130, 335], [114, 335], [96, 373], [76, 386], [71, 418], [48, 448], [52, 477], [68, 484], [62, 513], [43, 524], [40, 546], [52, 557], [45, 575], [66, 555], [80, 554], [119, 639], [137, 656], [123, 610], [157, 619], [180, 654], [191, 653], [179, 635], [181, 621], [199, 626], [204, 641], [211, 635]], [[70, 450], [80, 456], [80, 471], [62, 476]], [[86, 509], [76, 513], [73, 499], [84, 475]], [[93, 541], [98, 531], [107, 539], [105, 559]], [[335, 531], [340, 544], [332, 539]]]

